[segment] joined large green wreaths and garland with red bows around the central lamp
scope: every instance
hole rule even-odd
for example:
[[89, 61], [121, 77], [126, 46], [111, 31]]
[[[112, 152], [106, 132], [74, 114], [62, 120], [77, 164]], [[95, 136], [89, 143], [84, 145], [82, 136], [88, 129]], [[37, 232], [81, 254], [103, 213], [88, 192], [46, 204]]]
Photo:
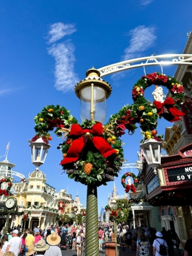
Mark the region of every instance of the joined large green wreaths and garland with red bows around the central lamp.
[[[144, 91], [152, 84], [166, 87], [172, 97], [163, 103], [146, 100]], [[88, 120], [79, 124], [63, 106], [48, 105], [34, 118], [37, 134], [30, 142], [42, 137], [48, 143], [52, 139], [49, 132], [55, 129], [58, 137], [63, 135], [63, 142], [57, 148], [62, 152], [60, 164], [68, 177], [84, 185], [106, 185], [106, 182], [118, 177], [124, 162], [120, 137], [125, 130], [133, 134], [136, 123], [139, 123], [145, 134], [144, 140], [151, 135], [151, 138], [162, 141], [161, 135], [153, 135], [156, 133], [157, 119], [164, 117], [174, 122], [184, 115], [179, 111], [184, 102], [184, 88], [173, 77], [157, 72], [142, 76], [134, 84], [132, 96], [134, 103], [123, 106], [104, 125]]]

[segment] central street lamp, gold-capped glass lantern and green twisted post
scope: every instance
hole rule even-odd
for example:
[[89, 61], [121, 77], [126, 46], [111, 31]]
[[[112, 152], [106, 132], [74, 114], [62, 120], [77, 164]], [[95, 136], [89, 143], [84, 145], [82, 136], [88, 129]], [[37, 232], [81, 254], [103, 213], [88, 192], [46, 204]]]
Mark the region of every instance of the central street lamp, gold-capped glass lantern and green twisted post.
[[[106, 99], [112, 88], [108, 82], [101, 79], [100, 72], [94, 68], [86, 73], [87, 77], [77, 83], [75, 93], [80, 99], [80, 117], [84, 121], [103, 122], [106, 116]], [[86, 215], [86, 255], [99, 255], [98, 241], [98, 206], [97, 186], [87, 186]]]

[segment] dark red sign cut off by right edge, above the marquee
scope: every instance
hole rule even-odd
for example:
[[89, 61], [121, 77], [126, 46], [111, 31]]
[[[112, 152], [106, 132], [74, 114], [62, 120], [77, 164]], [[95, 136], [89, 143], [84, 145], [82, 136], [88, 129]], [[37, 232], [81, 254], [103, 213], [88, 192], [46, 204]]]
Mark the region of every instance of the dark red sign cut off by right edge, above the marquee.
[[183, 120], [187, 134], [192, 134], [192, 98], [185, 96], [182, 105], [182, 112], [185, 113]]

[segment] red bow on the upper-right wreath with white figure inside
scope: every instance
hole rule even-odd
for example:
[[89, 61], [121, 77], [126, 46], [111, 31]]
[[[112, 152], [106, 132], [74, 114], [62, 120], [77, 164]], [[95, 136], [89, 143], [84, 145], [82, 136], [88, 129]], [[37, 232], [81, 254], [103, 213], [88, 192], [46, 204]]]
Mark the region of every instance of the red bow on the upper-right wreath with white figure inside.
[[166, 115], [164, 115], [163, 117], [170, 122], [181, 120], [180, 117], [185, 115], [183, 112], [179, 111], [174, 106], [175, 102], [172, 97], [168, 97], [167, 99], [165, 99], [163, 103], [156, 100], [153, 103], [156, 106], [158, 115], [161, 115], [164, 113], [164, 108], [167, 109], [168, 114], [170, 114], [171, 116], [167, 118]]

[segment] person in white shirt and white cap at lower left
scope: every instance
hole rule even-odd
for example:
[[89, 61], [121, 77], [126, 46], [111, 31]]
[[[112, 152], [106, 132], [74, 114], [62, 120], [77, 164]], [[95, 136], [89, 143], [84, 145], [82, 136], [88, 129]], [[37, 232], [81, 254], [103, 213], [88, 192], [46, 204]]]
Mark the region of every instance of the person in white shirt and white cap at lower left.
[[8, 242], [6, 251], [12, 251], [15, 253], [15, 256], [18, 256], [20, 252], [20, 247], [22, 245], [22, 239], [18, 237], [18, 230], [15, 229], [11, 232], [12, 238]]

